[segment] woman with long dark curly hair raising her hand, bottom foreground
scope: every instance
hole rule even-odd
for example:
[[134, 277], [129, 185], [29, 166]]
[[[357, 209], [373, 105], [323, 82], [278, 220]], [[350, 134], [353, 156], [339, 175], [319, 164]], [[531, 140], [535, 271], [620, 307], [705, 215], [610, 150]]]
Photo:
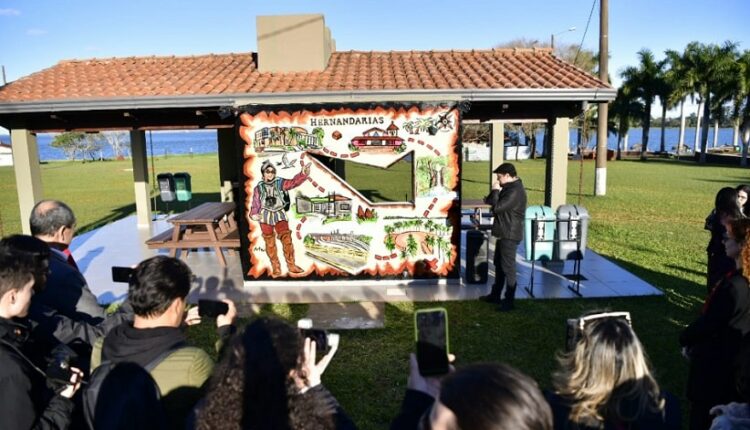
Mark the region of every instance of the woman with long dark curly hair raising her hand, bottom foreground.
[[197, 429], [349, 429], [354, 424], [320, 377], [335, 348], [316, 362], [298, 329], [259, 318], [235, 337], [197, 411]]

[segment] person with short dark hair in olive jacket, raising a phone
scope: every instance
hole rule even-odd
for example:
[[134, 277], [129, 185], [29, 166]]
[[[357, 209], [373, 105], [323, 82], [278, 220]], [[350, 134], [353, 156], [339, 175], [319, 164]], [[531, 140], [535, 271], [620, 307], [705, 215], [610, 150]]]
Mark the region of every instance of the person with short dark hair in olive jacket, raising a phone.
[[[187, 343], [184, 331], [185, 325], [201, 321], [197, 307], [185, 311], [192, 278], [190, 268], [179, 259], [158, 255], [142, 261], [128, 287], [134, 321], [115, 327], [94, 344], [91, 353], [92, 372], [104, 361], [153, 365], [150, 373], [159, 386], [170, 428], [185, 427], [214, 367], [205, 351]], [[226, 313], [216, 317], [217, 349], [234, 330], [237, 315], [231, 300], [224, 303]]]

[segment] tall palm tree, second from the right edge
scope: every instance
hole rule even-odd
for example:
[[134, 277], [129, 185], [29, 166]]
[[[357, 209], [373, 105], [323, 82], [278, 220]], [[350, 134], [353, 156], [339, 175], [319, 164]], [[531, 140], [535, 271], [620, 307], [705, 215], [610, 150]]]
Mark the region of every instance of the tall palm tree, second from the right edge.
[[712, 103], [713, 97], [721, 98], [721, 88], [726, 85], [728, 76], [731, 75], [738, 57], [737, 44], [727, 41], [724, 45], [719, 46], [690, 42], [685, 51], [689, 60], [686, 66], [690, 68], [690, 72], [693, 74], [694, 89], [699, 94], [699, 100], [703, 102], [699, 162], [705, 163], [711, 112], [712, 110], [716, 112], [716, 103]]

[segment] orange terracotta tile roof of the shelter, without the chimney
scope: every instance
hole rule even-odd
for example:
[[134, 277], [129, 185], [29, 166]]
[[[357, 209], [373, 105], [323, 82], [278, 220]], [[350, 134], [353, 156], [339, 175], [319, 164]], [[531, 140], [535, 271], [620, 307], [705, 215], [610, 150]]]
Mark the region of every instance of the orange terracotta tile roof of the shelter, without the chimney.
[[326, 70], [260, 73], [252, 53], [67, 60], [0, 88], [0, 104], [367, 90], [611, 88], [549, 49], [334, 52]]

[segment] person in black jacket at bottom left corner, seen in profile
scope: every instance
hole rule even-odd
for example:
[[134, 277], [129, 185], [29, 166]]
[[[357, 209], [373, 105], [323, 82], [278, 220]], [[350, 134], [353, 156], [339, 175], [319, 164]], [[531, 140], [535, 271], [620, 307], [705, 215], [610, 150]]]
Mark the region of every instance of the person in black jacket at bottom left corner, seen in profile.
[[80, 370], [70, 380], [48, 388], [45, 372], [22, 351], [29, 331], [23, 318], [34, 294], [39, 267], [24, 253], [0, 245], [0, 428], [66, 429], [73, 411], [71, 398], [80, 387]]

